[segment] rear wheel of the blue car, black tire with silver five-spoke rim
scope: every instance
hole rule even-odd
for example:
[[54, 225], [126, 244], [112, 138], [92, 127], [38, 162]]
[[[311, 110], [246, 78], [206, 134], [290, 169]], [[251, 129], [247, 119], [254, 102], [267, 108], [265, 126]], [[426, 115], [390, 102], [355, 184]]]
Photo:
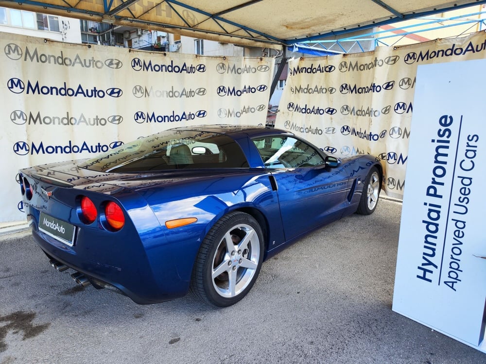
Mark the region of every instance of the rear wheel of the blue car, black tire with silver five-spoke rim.
[[[229, 246], [228, 237], [231, 237]], [[235, 304], [257, 280], [263, 249], [263, 233], [253, 216], [240, 211], [223, 216], [199, 248], [192, 271], [191, 293], [219, 307]]]

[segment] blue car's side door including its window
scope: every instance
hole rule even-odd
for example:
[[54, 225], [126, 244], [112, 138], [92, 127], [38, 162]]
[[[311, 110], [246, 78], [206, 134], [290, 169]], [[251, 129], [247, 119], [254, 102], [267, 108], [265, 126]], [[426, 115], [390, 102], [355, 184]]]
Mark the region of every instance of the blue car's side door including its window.
[[275, 178], [285, 240], [339, 218], [347, 197], [344, 168], [330, 168], [312, 145], [279, 135], [255, 138], [265, 167]]

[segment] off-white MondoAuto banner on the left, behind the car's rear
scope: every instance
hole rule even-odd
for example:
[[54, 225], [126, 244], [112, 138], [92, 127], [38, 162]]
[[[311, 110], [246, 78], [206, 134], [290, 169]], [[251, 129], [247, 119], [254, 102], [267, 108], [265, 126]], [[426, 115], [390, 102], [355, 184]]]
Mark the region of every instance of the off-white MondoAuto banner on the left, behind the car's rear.
[[87, 158], [173, 127], [264, 125], [274, 59], [74, 45], [0, 33], [6, 186], [0, 222], [23, 220], [19, 168]]

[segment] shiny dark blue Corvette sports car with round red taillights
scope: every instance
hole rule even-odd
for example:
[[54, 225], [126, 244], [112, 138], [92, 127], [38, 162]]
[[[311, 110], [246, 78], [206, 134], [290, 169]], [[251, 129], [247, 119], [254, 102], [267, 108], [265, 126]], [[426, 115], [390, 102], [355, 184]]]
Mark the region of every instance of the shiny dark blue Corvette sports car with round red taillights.
[[191, 291], [224, 307], [303, 234], [371, 214], [382, 166], [328, 156], [291, 132], [213, 125], [25, 168], [18, 180], [37, 244], [77, 283], [139, 304]]

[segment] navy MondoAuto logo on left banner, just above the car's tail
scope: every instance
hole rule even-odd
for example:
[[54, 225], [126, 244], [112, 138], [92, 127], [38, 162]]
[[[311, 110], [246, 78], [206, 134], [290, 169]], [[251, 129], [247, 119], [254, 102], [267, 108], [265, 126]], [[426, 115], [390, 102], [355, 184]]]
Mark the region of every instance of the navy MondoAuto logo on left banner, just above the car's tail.
[[109, 146], [106, 144], [88, 144], [86, 141], [81, 144], [74, 144], [71, 140], [65, 145], [46, 145], [44, 142], [31, 145], [26, 142], [17, 142], [14, 144], [14, 152], [18, 155], [38, 155], [38, 154], [71, 154], [71, 153], [101, 153], [107, 152], [111, 146], [113, 148], [120, 146], [123, 142], [113, 142]]

